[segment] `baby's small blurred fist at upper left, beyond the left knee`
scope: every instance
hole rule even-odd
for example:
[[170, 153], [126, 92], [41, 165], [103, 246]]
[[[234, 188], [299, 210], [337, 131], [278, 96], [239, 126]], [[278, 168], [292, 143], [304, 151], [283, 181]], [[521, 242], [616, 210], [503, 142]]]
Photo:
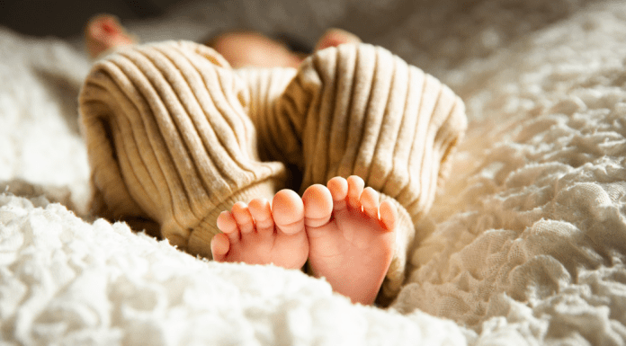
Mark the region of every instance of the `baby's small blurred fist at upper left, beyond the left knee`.
[[85, 47], [91, 58], [97, 58], [104, 51], [136, 43], [120, 22], [111, 14], [99, 14], [85, 26]]

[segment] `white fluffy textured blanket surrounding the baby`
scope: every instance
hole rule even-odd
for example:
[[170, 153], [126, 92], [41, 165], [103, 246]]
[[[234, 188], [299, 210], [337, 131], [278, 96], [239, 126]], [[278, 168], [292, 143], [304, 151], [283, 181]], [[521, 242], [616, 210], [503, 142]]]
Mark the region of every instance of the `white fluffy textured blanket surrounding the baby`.
[[320, 3], [202, 4], [134, 30], [198, 39], [202, 22], [243, 22], [312, 41], [357, 13], [365, 40], [461, 95], [469, 132], [396, 302], [354, 306], [300, 271], [201, 261], [77, 217], [89, 62], [0, 29], [0, 343], [626, 344], [626, 4]]

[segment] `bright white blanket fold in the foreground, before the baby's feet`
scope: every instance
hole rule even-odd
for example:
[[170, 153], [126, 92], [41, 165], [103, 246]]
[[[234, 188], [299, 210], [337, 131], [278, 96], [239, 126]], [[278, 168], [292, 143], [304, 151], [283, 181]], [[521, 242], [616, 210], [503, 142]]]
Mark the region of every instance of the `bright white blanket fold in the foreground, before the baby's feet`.
[[300, 271], [207, 262], [87, 224], [59, 204], [0, 198], [4, 341], [28, 345], [461, 344], [459, 328], [353, 306]]

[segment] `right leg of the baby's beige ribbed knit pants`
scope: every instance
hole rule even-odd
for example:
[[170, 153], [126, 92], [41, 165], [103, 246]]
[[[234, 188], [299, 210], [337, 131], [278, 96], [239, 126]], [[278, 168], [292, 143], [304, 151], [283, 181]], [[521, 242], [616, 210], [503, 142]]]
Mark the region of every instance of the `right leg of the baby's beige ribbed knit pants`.
[[341, 45], [306, 59], [266, 116], [256, 122], [262, 140], [300, 166], [301, 191], [355, 174], [397, 205], [397, 249], [383, 284], [384, 296], [395, 296], [414, 225], [467, 127], [461, 99], [386, 49]]

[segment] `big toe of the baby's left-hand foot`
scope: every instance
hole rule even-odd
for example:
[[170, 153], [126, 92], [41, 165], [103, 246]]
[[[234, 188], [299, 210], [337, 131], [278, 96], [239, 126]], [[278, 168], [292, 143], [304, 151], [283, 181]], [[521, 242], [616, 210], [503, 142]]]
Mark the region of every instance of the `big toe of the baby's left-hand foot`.
[[278, 191], [272, 201], [272, 214], [283, 233], [293, 235], [304, 230], [304, 205], [296, 192]]

